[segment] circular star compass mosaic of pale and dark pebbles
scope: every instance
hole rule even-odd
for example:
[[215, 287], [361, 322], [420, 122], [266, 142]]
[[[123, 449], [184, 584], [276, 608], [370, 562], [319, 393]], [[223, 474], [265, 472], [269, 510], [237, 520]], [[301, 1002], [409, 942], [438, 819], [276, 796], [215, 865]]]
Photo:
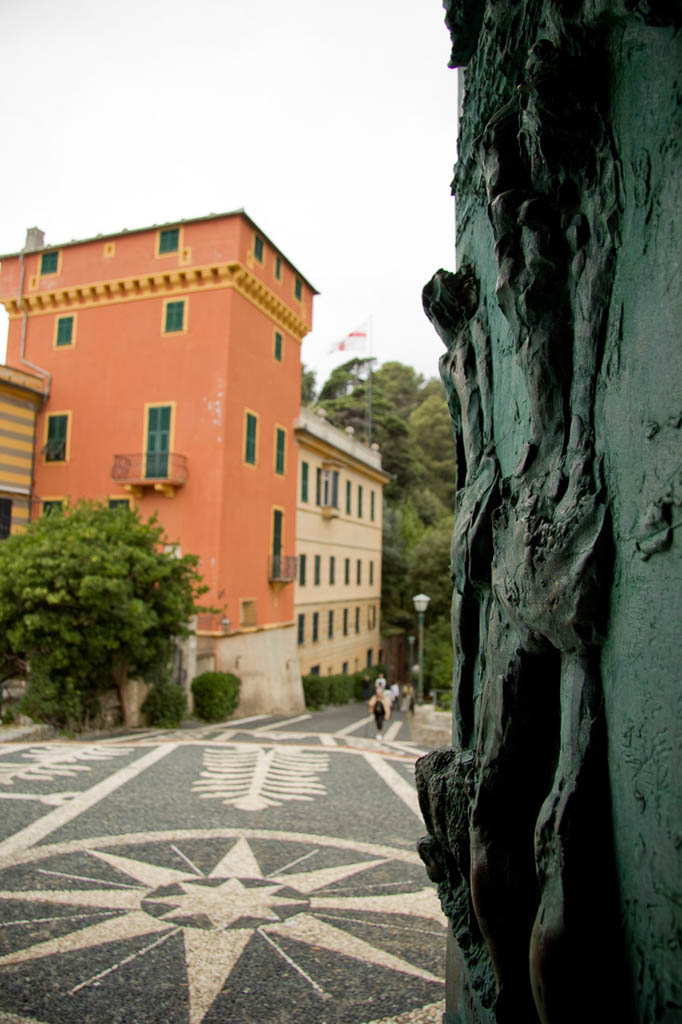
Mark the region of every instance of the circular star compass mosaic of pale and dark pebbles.
[[45, 1024], [365, 1024], [442, 996], [411, 851], [297, 833], [102, 837], [0, 871], [0, 1010]]

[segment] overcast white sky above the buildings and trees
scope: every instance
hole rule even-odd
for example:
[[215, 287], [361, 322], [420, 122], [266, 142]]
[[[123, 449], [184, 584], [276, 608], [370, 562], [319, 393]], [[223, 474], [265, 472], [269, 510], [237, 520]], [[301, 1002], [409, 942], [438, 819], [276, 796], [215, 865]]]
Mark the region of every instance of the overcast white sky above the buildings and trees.
[[[0, 253], [246, 209], [321, 292], [303, 361], [372, 316], [437, 375], [457, 73], [440, 0], [3, 0]], [[0, 324], [4, 357], [6, 318]]]

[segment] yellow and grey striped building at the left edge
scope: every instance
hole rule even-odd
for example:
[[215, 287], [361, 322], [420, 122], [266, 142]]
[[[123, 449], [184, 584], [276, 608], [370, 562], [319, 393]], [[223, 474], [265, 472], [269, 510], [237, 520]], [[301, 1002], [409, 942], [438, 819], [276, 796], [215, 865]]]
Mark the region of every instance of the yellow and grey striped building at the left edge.
[[40, 377], [0, 366], [0, 539], [31, 518], [36, 414], [44, 395]]

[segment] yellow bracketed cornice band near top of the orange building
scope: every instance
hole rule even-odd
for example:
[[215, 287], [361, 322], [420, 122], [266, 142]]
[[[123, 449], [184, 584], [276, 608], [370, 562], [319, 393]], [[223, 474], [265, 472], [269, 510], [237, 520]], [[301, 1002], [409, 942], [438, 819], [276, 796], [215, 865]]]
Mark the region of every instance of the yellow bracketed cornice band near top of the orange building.
[[282, 299], [239, 262], [211, 263], [186, 269], [157, 271], [94, 282], [90, 285], [54, 288], [44, 292], [25, 294], [22, 302], [14, 297], [3, 299], [10, 317], [69, 312], [92, 309], [95, 306], [119, 305], [157, 296], [190, 295], [233, 288], [248, 302], [264, 312], [287, 334], [301, 341], [308, 333], [308, 325]]

